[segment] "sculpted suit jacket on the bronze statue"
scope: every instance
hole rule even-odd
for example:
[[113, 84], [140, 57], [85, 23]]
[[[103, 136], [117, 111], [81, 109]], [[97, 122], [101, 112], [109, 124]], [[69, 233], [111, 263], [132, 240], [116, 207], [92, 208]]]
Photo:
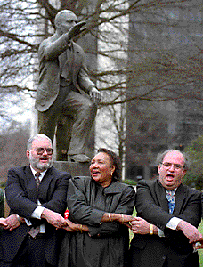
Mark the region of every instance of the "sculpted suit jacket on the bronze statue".
[[[69, 47], [66, 38], [66, 35], [59, 37], [55, 33], [39, 46], [39, 83], [35, 104], [38, 111], [43, 112], [49, 109], [59, 94], [61, 75], [59, 56]], [[72, 45], [74, 53], [71, 69], [72, 83], [78, 92], [82, 89], [89, 93], [94, 84], [87, 75], [85, 53], [78, 44], [72, 42]]]

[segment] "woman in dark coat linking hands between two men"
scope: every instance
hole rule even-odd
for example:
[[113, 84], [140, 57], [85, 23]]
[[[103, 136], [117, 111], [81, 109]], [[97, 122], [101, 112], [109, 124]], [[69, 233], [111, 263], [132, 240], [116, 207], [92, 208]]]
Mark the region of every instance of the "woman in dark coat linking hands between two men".
[[134, 188], [119, 182], [121, 164], [110, 150], [99, 149], [89, 169], [91, 177], [69, 181], [69, 220], [77, 224], [63, 239], [59, 266], [125, 267]]

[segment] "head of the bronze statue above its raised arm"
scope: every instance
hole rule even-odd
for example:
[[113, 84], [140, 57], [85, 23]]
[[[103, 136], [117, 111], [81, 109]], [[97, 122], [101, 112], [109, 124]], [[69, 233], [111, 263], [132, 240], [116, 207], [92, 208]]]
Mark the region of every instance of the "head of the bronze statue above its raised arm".
[[76, 23], [77, 16], [70, 10], [62, 10], [61, 12], [58, 12], [54, 20], [56, 30], [60, 31], [61, 34], [68, 32], [69, 28], [74, 26]]

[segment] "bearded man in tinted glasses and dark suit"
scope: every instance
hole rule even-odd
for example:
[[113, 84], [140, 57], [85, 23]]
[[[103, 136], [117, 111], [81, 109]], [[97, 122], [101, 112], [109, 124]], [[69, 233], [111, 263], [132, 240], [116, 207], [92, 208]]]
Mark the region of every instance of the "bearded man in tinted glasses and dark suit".
[[0, 240], [1, 267], [57, 266], [59, 228], [67, 227], [63, 214], [70, 174], [56, 170], [52, 156], [52, 141], [37, 134], [28, 140], [30, 165], [8, 172], [5, 195], [10, 216]]

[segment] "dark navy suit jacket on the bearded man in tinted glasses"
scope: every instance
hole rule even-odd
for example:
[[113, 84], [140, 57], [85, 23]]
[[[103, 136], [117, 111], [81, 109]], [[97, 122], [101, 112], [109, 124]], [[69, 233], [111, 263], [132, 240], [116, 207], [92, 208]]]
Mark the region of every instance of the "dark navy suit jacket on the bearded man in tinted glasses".
[[[38, 188], [38, 199], [41, 206], [53, 210], [61, 215], [66, 209], [66, 197], [70, 174], [51, 167]], [[30, 220], [33, 225], [45, 223], [45, 257], [48, 263], [55, 265], [60, 248], [60, 231], [45, 220], [31, 219], [31, 214], [37, 207], [37, 185], [29, 166], [12, 167], [8, 172], [5, 188], [6, 200], [10, 206], [10, 214], [19, 214]], [[1, 244], [1, 258], [12, 261], [17, 254], [21, 243], [28, 234], [30, 226], [21, 223], [13, 231], [3, 232]]]

